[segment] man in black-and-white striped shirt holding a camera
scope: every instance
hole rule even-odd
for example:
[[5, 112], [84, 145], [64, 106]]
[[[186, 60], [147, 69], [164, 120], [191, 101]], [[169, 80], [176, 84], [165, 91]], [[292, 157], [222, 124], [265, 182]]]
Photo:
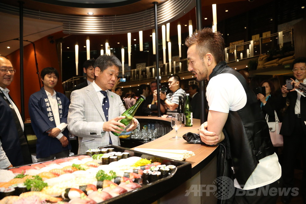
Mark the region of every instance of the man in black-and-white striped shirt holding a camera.
[[184, 96], [186, 92], [180, 87], [181, 78], [177, 75], [171, 75], [168, 77], [168, 86], [170, 93], [160, 92], [160, 99], [164, 101], [165, 108], [167, 109], [167, 115], [177, 113], [177, 107], [179, 103], [179, 96], [182, 97], [182, 103], [184, 103]]

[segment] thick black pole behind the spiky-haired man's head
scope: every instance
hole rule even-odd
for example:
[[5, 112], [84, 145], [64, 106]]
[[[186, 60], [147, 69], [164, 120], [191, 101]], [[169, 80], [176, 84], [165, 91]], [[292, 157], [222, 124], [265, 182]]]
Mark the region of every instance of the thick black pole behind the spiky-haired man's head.
[[[196, 29], [200, 30], [202, 29], [202, 6], [201, 6], [201, 0], [196, 0]], [[199, 83], [200, 87], [200, 120], [201, 124], [207, 121], [206, 116], [206, 97], [205, 97], [205, 82], [200, 81]]]

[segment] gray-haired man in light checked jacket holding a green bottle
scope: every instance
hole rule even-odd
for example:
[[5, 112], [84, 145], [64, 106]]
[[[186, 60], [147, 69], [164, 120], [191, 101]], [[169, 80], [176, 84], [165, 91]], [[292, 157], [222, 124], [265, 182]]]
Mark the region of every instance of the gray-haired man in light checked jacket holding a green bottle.
[[[122, 69], [121, 62], [114, 55], [101, 55], [95, 61], [95, 80], [82, 89], [73, 91], [68, 113], [68, 129], [79, 137], [78, 154], [88, 149], [113, 144], [120, 145], [117, 136], [125, 126], [118, 122], [125, 116], [120, 96], [109, 91], [113, 88]], [[133, 118], [127, 132], [139, 129], [138, 121]]]

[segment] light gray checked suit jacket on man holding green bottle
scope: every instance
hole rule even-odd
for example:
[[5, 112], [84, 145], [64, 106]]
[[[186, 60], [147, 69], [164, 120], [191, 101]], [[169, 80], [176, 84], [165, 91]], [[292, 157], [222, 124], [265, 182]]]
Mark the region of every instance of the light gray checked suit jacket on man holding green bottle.
[[[108, 112], [109, 120], [120, 116], [125, 108], [117, 94], [107, 91], [110, 102]], [[109, 145], [111, 137], [113, 145], [119, 146], [120, 140], [111, 132], [104, 132], [102, 127], [106, 121], [98, 95], [92, 84], [79, 90], [75, 90], [70, 96], [68, 113], [68, 129], [79, 137], [78, 154], [88, 149]]]

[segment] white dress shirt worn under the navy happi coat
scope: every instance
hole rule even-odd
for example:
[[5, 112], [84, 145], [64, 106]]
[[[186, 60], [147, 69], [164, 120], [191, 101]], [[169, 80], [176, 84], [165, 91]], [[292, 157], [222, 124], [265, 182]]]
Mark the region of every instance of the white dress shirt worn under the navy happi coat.
[[[46, 91], [46, 94], [48, 96], [50, 107], [52, 109], [52, 113], [53, 113], [56, 128], [61, 130], [61, 132], [58, 134], [58, 136], [56, 136], [56, 138], [61, 139], [62, 136], [63, 136], [62, 132], [67, 127], [67, 123], [61, 123], [61, 121], [60, 121], [59, 111], [58, 111], [58, 101], [56, 99], [56, 92], [53, 90], [53, 95], [51, 95], [48, 91]], [[68, 136], [68, 135], [66, 135], [66, 136]]]

